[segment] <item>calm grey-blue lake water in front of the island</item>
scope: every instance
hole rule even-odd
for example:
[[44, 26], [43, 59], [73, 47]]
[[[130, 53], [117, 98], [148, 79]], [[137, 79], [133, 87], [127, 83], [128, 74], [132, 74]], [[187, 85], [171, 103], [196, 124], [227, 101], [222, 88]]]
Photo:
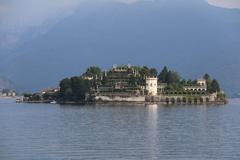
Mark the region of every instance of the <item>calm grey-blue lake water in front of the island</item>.
[[239, 160], [240, 105], [69, 106], [0, 100], [0, 160]]

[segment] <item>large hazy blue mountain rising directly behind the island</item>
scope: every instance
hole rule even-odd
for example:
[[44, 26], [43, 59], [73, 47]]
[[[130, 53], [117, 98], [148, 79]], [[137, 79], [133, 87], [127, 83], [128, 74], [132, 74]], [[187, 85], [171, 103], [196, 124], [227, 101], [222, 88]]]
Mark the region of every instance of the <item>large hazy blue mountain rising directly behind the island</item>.
[[208, 72], [228, 93], [240, 90], [240, 10], [202, 0], [85, 5], [9, 51], [0, 73], [32, 91], [89, 65], [168, 65], [189, 78]]

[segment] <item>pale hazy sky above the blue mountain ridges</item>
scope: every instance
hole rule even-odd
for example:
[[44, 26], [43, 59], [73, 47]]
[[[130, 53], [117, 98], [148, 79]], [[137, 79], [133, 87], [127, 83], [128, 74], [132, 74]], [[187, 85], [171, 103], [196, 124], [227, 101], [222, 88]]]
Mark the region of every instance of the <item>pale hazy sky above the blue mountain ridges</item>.
[[[46, 32], [64, 17], [75, 12], [89, 0], [1, 0], [0, 1], [0, 48], [11, 48], [26, 31], [34, 34]], [[132, 4], [139, 1], [165, 0], [92, 0]], [[174, 0], [173, 0], [174, 1]], [[240, 8], [240, 0], [206, 0], [209, 4], [225, 8]], [[177, 3], [177, 2], [176, 2]]]

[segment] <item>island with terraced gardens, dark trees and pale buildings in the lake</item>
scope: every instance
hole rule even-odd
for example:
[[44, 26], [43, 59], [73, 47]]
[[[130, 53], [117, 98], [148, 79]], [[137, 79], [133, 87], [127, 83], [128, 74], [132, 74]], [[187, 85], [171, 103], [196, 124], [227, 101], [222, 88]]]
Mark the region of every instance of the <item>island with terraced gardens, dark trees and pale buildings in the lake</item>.
[[87, 68], [81, 76], [64, 78], [59, 87], [24, 94], [29, 103], [162, 103], [225, 104], [227, 96], [218, 81], [205, 74], [182, 78], [166, 66], [158, 72], [147, 66], [113, 65], [109, 70]]

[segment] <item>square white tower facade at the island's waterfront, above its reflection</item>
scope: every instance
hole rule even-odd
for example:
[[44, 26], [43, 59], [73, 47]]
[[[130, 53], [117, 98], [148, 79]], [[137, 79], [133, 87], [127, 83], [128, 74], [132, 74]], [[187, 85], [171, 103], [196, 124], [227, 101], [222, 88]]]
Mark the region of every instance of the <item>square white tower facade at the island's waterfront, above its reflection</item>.
[[146, 77], [146, 91], [148, 95], [156, 96], [158, 88], [158, 79], [157, 77]]

